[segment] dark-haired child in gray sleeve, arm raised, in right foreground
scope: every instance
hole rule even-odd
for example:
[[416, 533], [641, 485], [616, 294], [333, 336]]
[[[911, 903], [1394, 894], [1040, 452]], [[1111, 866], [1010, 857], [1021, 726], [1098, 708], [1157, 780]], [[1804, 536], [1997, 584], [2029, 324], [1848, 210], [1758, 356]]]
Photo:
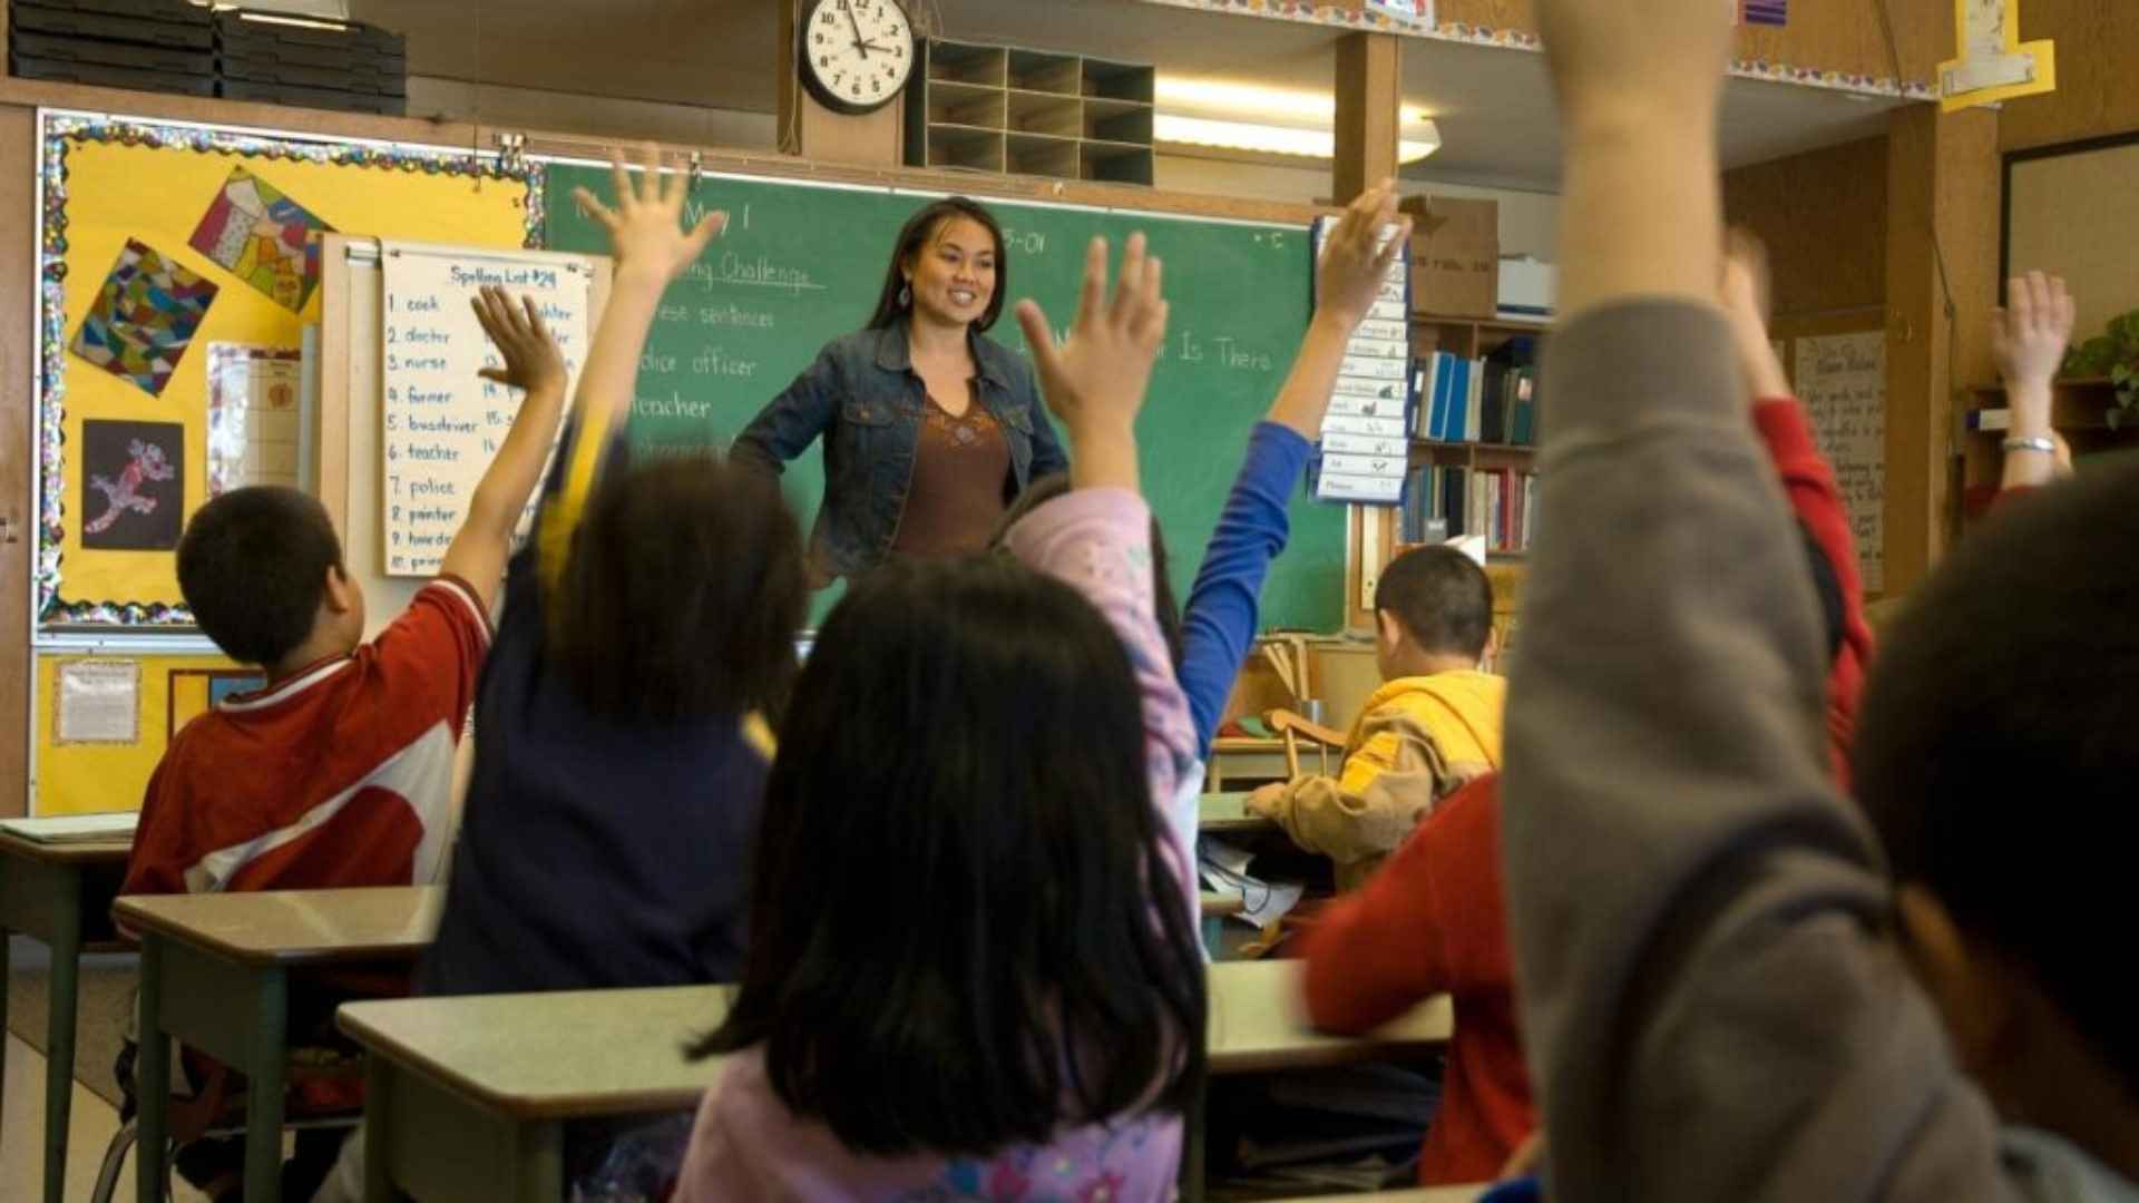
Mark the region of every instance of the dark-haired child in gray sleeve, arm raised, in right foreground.
[[2139, 1199], [2103, 931], [2130, 910], [2139, 465], [2015, 501], [1923, 587], [1852, 807], [1711, 300], [1726, 6], [1538, 15], [1566, 317], [1504, 856], [1551, 1197]]

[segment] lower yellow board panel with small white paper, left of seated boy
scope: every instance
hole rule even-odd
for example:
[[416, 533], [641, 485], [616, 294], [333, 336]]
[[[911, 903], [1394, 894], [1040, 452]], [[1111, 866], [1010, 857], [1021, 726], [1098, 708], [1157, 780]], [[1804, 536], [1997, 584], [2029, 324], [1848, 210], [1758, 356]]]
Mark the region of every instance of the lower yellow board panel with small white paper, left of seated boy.
[[[64, 738], [60, 696], [68, 666], [130, 666], [135, 681], [133, 738]], [[171, 734], [210, 706], [210, 689], [252, 685], [250, 674], [220, 655], [133, 655], [56, 651], [36, 657], [36, 781], [41, 816], [133, 811]]]

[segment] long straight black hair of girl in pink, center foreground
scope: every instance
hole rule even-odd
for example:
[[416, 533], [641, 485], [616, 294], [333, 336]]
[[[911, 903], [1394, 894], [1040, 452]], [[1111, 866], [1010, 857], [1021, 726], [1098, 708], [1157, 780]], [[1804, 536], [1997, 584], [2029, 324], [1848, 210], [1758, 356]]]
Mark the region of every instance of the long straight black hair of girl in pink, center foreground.
[[699, 1053], [761, 1045], [862, 1154], [986, 1154], [1181, 1109], [1202, 957], [1161, 850], [1114, 629], [1007, 557], [858, 578], [766, 783], [742, 989]]

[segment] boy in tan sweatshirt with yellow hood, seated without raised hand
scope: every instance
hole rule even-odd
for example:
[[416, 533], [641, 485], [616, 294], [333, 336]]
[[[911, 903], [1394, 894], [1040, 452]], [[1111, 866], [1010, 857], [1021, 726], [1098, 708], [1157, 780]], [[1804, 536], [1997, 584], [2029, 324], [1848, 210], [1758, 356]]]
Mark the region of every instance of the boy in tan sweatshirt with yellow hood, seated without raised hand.
[[1499, 768], [1508, 681], [1480, 670], [1493, 642], [1493, 584], [1455, 548], [1414, 548], [1373, 591], [1382, 687], [1345, 741], [1339, 777], [1249, 794], [1251, 813], [1337, 865], [1337, 888], [1373, 873], [1435, 803]]

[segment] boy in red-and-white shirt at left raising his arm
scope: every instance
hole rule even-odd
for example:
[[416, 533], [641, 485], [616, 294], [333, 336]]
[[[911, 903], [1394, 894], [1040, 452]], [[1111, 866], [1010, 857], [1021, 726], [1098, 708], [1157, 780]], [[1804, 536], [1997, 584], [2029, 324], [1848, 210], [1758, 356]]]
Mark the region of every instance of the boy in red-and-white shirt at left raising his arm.
[[[374, 640], [364, 642], [364, 591], [317, 499], [240, 488], [186, 524], [178, 544], [186, 604], [225, 655], [267, 672], [267, 687], [216, 704], [171, 741], [141, 801], [120, 893], [438, 878], [453, 751], [490, 649], [490, 604], [565, 405], [565, 362], [535, 304], [486, 289], [475, 313], [505, 360], [483, 375], [526, 398], [468, 497], [438, 578]], [[126, 1062], [122, 1053], [122, 1081]], [[188, 1055], [188, 1075], [212, 1083], [220, 1070]], [[312, 1194], [340, 1143], [338, 1132], [299, 1137], [299, 1156], [284, 1167], [291, 1199]], [[242, 1143], [197, 1141], [175, 1164], [216, 1197], [233, 1188]]]

